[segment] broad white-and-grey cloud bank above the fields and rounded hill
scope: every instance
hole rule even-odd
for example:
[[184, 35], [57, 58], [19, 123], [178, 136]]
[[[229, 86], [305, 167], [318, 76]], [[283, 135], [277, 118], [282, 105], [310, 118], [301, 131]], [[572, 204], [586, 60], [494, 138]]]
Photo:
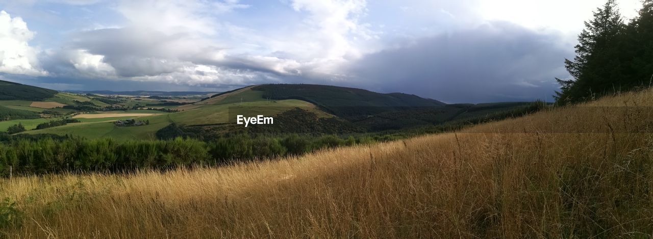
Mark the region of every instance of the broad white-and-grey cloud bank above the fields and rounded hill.
[[[103, 65], [50, 68], [188, 85], [260, 84], [284, 76], [334, 78], [342, 65], [362, 56], [362, 42], [376, 37], [358, 22], [365, 5], [360, 0], [294, 0], [288, 7], [306, 15], [286, 34], [221, 20], [225, 12], [249, 7], [235, 0], [121, 1], [117, 9], [129, 21], [125, 27], [71, 33], [59, 50], [69, 53], [53, 54], [59, 59], [50, 61], [100, 59]], [[99, 66], [104, 70], [93, 68]]]

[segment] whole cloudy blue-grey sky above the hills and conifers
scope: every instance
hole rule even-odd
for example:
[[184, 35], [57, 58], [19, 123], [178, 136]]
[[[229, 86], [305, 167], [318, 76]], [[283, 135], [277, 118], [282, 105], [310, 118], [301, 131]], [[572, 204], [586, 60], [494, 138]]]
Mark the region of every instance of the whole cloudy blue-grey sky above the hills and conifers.
[[[0, 0], [0, 80], [58, 90], [327, 84], [552, 100], [602, 0]], [[639, 0], [618, 0], [626, 20]]]

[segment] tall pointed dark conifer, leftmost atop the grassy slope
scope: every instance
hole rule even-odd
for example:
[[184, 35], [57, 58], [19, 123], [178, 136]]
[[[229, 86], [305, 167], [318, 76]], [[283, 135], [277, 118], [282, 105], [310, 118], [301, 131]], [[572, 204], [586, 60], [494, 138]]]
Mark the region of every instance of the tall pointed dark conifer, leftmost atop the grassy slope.
[[556, 78], [560, 84], [560, 91], [554, 95], [558, 103], [584, 101], [605, 90], [605, 84], [609, 84], [614, 76], [614, 71], [605, 66], [618, 59], [615, 57], [618, 50], [613, 46], [624, 27], [615, 0], [608, 0], [603, 8], [597, 8], [594, 19], [585, 22], [585, 29], [578, 37], [573, 61], [565, 59], [565, 68], [571, 79]]

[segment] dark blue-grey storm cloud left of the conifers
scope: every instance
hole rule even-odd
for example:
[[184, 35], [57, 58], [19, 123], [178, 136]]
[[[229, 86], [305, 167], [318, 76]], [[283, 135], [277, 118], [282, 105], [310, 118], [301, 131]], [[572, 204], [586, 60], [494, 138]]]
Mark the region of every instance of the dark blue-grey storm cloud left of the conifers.
[[359, 86], [449, 103], [551, 100], [554, 77], [573, 56], [559, 35], [506, 22], [417, 39], [363, 57], [349, 68]]

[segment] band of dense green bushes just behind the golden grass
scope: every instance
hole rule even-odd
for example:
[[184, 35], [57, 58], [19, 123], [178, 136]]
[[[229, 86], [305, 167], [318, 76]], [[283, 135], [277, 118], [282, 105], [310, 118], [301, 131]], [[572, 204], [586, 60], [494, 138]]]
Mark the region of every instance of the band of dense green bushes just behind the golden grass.
[[0, 175], [57, 172], [129, 172], [139, 168], [161, 169], [225, 165], [302, 155], [338, 146], [392, 140], [387, 136], [251, 137], [247, 135], [202, 141], [193, 138], [119, 141], [112, 138], [16, 138], [0, 144]]

